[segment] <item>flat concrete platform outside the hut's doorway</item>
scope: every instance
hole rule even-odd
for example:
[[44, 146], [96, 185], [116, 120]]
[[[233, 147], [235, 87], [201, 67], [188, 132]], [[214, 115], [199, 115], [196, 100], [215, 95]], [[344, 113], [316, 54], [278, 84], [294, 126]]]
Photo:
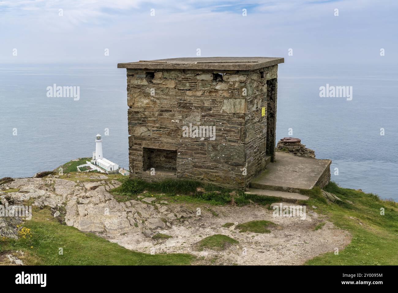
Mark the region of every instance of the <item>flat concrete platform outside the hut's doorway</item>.
[[276, 162], [267, 165], [250, 188], [298, 192], [314, 186], [324, 188], [330, 180], [331, 160], [299, 157], [285, 152], [276, 152]]

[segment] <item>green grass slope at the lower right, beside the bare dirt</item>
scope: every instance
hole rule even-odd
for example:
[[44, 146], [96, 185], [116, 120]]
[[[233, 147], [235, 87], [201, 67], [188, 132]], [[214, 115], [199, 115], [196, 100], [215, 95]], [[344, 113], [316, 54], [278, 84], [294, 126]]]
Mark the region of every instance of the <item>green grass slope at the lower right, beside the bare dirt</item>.
[[[377, 195], [339, 187], [331, 182], [326, 191], [344, 202], [327, 203], [320, 189], [311, 191], [308, 205], [315, 205], [317, 213], [328, 215], [338, 228], [352, 234], [351, 243], [339, 254], [328, 252], [308, 260], [310, 265], [397, 265], [398, 264], [398, 208], [390, 200]], [[353, 204], [347, 203], [347, 200]], [[380, 215], [384, 208], [384, 215]], [[361, 225], [361, 224], [362, 225]]]

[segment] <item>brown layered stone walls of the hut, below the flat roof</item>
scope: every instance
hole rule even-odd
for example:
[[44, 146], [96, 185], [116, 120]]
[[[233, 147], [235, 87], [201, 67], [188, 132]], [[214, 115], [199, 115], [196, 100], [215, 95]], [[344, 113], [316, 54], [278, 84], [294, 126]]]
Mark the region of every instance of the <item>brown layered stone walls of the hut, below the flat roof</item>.
[[[247, 186], [265, 168], [267, 80], [276, 78], [277, 65], [250, 71], [127, 69], [130, 176], [164, 179], [144, 170], [142, 148], [159, 148], [177, 152], [178, 178]], [[190, 125], [215, 126], [215, 139], [183, 137]]]

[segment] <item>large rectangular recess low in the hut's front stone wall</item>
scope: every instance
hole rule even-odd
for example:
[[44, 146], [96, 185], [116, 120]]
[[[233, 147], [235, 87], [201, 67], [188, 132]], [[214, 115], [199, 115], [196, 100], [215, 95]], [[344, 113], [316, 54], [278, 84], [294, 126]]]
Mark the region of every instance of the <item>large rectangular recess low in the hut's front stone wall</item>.
[[161, 148], [142, 148], [144, 171], [155, 169], [155, 172], [177, 172], [177, 150]]

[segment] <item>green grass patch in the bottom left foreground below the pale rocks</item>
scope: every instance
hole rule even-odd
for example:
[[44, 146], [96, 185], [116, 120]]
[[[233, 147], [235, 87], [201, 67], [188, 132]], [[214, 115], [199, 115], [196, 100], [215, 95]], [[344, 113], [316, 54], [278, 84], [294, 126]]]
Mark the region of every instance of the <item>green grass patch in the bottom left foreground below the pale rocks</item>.
[[[33, 208], [32, 220], [24, 227], [32, 237], [0, 239], [0, 252], [22, 250], [27, 265], [189, 265], [191, 254], [145, 254], [111, 243], [91, 233], [61, 225], [51, 210]], [[33, 246], [33, 247], [31, 247]], [[63, 255], [59, 255], [63, 248]]]

